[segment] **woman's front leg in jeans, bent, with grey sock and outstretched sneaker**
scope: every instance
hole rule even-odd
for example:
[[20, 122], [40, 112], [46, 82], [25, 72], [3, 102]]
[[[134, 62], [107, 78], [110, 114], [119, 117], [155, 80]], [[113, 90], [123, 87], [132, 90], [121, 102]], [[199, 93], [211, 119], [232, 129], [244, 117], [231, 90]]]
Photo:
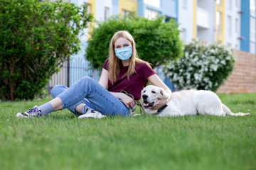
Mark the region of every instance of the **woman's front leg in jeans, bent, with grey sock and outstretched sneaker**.
[[[55, 94], [53, 94], [53, 96], [55, 96]], [[75, 106], [78, 106], [80, 101], [84, 98], [87, 98], [92, 104], [92, 107], [103, 115], [129, 115], [129, 109], [124, 103], [119, 101], [118, 98], [104, 89], [94, 79], [84, 77], [48, 103], [39, 107], [35, 106], [26, 112], [17, 113], [16, 116], [23, 118], [43, 116], [65, 108], [69, 108], [71, 111], [75, 112]]]

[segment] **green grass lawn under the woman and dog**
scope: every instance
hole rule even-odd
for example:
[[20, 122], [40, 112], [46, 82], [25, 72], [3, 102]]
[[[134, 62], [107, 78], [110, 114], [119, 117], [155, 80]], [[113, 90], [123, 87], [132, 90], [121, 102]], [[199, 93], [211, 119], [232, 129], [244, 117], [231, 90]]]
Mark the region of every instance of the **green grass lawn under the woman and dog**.
[[49, 99], [1, 102], [0, 169], [256, 169], [256, 94], [220, 98], [251, 115], [23, 119]]

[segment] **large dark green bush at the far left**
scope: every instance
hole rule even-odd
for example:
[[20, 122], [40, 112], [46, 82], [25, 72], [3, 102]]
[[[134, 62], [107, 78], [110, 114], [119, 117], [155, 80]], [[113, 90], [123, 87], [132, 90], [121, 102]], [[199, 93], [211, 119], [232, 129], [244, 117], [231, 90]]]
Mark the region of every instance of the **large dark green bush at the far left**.
[[32, 99], [80, 50], [78, 35], [92, 16], [63, 1], [0, 1], [0, 98]]

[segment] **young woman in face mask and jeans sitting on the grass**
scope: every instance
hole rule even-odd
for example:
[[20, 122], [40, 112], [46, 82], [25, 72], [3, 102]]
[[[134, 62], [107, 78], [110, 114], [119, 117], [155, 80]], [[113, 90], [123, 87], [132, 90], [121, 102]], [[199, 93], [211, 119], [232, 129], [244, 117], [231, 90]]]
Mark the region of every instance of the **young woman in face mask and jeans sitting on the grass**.
[[[43, 116], [53, 111], [68, 108], [78, 118], [103, 118], [105, 115], [130, 115], [131, 109], [139, 100], [141, 91], [148, 81], [159, 86], [169, 94], [171, 90], [151, 69], [149, 63], [137, 56], [134, 38], [127, 31], [115, 33], [110, 41], [109, 58], [102, 67], [97, 83], [90, 77], [84, 77], [70, 88], [54, 86], [53, 100], [30, 110], [17, 113], [17, 117], [29, 118]], [[127, 93], [123, 93], [126, 91]], [[159, 98], [154, 109], [164, 106], [169, 99]]]

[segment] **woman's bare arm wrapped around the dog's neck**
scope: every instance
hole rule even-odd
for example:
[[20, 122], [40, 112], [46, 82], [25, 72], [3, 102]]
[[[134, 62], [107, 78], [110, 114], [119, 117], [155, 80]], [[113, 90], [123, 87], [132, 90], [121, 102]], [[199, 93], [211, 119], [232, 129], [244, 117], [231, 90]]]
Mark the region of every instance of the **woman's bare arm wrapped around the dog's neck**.
[[161, 79], [156, 74], [151, 75], [148, 78], [148, 81], [154, 86], [159, 86], [159, 87], [163, 88], [170, 96], [168, 99], [159, 98], [159, 101], [157, 101], [155, 103], [155, 105], [152, 107], [152, 109], [159, 109], [159, 108], [161, 108], [161, 106], [166, 105], [166, 103], [168, 103], [170, 101], [171, 89], [169, 89], [169, 87], [166, 86], [166, 84], [164, 84], [164, 82], [161, 81]]

